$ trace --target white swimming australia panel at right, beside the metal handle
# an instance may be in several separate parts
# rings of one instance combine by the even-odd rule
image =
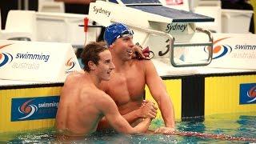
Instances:
[[[213,34],[214,54],[209,67],[256,69],[255,34]],[[205,48],[205,52],[208,50]]]

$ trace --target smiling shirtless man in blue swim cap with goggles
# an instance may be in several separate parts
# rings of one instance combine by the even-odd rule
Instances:
[[[130,123],[137,126],[143,118],[155,118],[157,106],[154,102],[143,100],[145,87],[161,110],[165,126],[155,130],[157,133],[174,131],[174,106],[167,93],[166,86],[159,77],[154,63],[150,60],[134,58],[135,49],[142,49],[133,42],[134,32],[122,23],[113,23],[106,27],[104,40],[113,58],[115,69],[110,81],[101,82],[101,89],[109,94],[118,106],[120,114]],[[110,128],[106,118],[98,123],[98,130]]]

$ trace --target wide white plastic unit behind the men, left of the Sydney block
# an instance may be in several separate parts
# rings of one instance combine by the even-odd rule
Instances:
[[[38,12],[36,16],[38,41],[69,42],[74,47],[82,48],[85,44],[95,42],[97,39],[97,29],[88,28],[86,37],[83,28],[79,26],[83,24],[86,14]],[[92,25],[92,22],[89,24]]]

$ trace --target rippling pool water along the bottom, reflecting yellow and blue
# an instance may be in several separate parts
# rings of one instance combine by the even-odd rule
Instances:
[[[150,130],[155,130],[160,126],[163,126],[162,120],[155,119],[151,123]],[[181,134],[186,134],[186,136],[177,134],[127,135],[118,134],[114,131],[105,131],[90,134],[90,136],[82,139],[66,140],[57,139],[54,128],[51,128],[3,133],[0,134],[0,143],[255,143],[256,112],[215,114],[206,118],[186,118],[182,122],[176,122],[176,130],[180,131]],[[190,136],[187,136],[187,134],[190,134]],[[205,137],[209,135],[209,138]]]

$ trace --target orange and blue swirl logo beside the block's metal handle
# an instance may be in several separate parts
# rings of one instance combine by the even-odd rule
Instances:
[[[227,37],[230,38],[230,37]],[[230,54],[232,51],[232,47],[229,45],[218,45],[218,42],[221,42],[226,38],[220,38],[214,41],[214,48],[213,48],[213,59],[222,58],[226,54]],[[208,48],[205,47],[205,52],[208,53]]]

